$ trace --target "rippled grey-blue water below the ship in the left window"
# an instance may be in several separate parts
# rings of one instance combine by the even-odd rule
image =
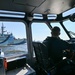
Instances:
[[[27,54],[27,44],[0,46],[5,57],[14,57]]]

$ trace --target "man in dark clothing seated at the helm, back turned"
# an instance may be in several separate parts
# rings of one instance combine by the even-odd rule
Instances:
[[[54,63],[58,63],[63,58],[63,50],[70,51],[70,44],[59,38],[60,28],[54,27],[51,30],[51,37],[47,37],[43,44],[47,46],[49,57]]]

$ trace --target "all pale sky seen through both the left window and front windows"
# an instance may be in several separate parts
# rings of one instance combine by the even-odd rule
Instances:
[[[69,15],[70,13],[75,13],[75,8],[65,12],[63,14],[63,16],[65,15]],[[25,29],[25,24],[23,22],[2,22],[0,21],[0,33],[1,33],[1,26],[2,24],[5,27],[5,31],[7,31],[8,33],[13,33],[13,36],[15,36],[15,38],[26,38],[26,29]],[[64,22],[65,27],[67,27],[68,30],[75,32],[74,29],[74,25],[75,22]],[[53,26],[57,26],[59,25],[59,27],[61,28],[60,24],[58,23],[54,23],[52,24]],[[38,30],[39,29],[39,30]],[[5,32],[5,33],[7,33]],[[40,34],[39,34],[40,33]],[[65,32],[63,31],[63,29],[61,28],[61,38],[63,39],[67,39],[68,37],[65,35]],[[41,37],[42,35],[42,37]],[[46,26],[45,23],[33,23],[32,24],[32,37],[33,40],[44,40],[47,36],[50,36],[50,30],[48,29],[48,27]]]

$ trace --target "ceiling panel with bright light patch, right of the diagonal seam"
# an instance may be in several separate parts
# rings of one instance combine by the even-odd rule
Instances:
[[[75,5],[75,0],[46,0],[33,13],[60,14]],[[39,12],[38,12],[39,11]]]

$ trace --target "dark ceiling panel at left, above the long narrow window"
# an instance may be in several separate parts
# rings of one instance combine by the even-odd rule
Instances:
[[[0,0],[0,10],[31,12],[35,7],[17,4],[13,0]]]

